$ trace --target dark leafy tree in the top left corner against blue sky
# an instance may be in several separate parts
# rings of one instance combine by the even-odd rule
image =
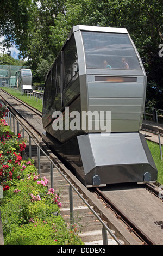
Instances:
[[[26,41],[31,7],[32,0],[1,1],[0,36],[5,35],[5,47],[11,47],[14,42],[20,45]]]

